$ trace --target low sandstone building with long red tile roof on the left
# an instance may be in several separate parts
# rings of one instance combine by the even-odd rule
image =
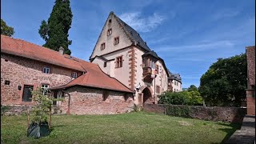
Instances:
[[[52,90],[62,113],[117,114],[132,110],[134,91],[97,64],[1,35],[1,104],[33,105],[31,90]]]

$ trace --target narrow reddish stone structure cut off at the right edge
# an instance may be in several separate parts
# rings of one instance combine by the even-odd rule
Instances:
[[[255,46],[246,47],[247,61],[247,114],[255,115]]]

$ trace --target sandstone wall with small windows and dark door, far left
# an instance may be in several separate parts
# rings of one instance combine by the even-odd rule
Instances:
[[[50,66],[50,74],[42,73],[44,66]],[[50,87],[63,85],[70,82],[70,74],[73,71],[75,70],[9,54],[1,54],[1,104],[31,104],[31,102],[22,102],[24,84],[33,85],[34,89],[41,84],[49,84]],[[78,72],[78,75],[81,74]],[[5,80],[9,80],[10,85],[5,85]],[[18,85],[22,86],[22,90],[18,90]]]

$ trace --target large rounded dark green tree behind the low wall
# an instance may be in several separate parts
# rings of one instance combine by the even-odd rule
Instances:
[[[240,106],[246,98],[246,54],[218,58],[200,79],[207,106]]]

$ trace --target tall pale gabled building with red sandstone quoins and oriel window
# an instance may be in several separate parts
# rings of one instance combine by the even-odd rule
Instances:
[[[114,12],[106,19],[90,62],[134,90],[134,103],[139,106],[157,103],[158,95],[168,89],[169,73],[163,59]]]

